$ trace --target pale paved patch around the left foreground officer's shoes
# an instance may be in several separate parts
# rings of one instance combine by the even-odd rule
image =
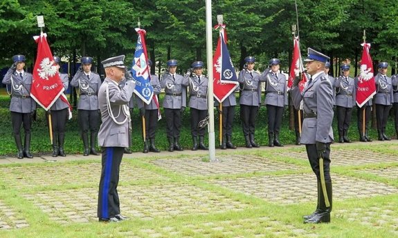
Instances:
[[[185,184],[163,184],[161,186],[119,186],[120,210],[127,217],[153,219],[175,215],[208,215],[214,212],[243,210],[251,205],[235,201],[216,192]],[[84,199],[81,195],[84,194]],[[98,189],[42,191],[26,194],[33,202],[57,221],[98,221]],[[51,199],[46,199],[51,197]],[[44,206],[44,204],[48,206]],[[62,204],[62,210],[59,209]],[[49,207],[49,209],[47,208]],[[87,220],[87,217],[89,218]]]

